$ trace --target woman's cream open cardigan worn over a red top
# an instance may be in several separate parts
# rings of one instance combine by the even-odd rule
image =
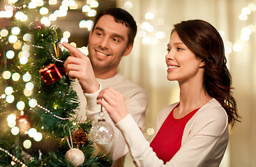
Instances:
[[[174,106],[176,104],[166,106],[160,111],[157,131]],[[166,164],[158,159],[130,115],[118,122],[116,127],[126,138],[135,166],[219,166],[229,140],[227,113],[215,99],[204,104],[188,121],[180,150]]]

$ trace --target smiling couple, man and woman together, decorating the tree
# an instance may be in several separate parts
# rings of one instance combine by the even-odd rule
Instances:
[[[114,127],[109,145],[113,166],[123,166],[130,151],[135,166],[218,166],[227,148],[228,125],[239,119],[231,92],[223,40],[208,22],[194,19],[174,25],[167,44],[167,79],[178,81],[180,101],[158,114],[151,143],[141,128],[147,96],[117,73],[122,56],[133,48],[137,25],[125,10],[113,8],[96,17],[89,35],[89,56],[70,50],[64,67],[86,97],[86,116],[98,120],[100,105]]]

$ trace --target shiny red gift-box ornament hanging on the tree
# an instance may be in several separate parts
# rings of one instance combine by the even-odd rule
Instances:
[[[65,73],[64,68],[58,68],[55,64],[51,63],[40,70],[41,77],[45,84],[50,85],[55,81],[61,79],[62,75]]]

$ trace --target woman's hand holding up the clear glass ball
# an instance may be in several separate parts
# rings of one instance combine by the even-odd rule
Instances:
[[[114,123],[119,122],[128,115],[123,95],[114,88],[105,88],[97,97],[97,104],[101,104],[109,113]]]

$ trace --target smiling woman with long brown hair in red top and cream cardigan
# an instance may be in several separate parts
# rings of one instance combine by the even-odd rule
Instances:
[[[229,140],[228,124],[239,119],[220,34],[199,19],[176,24],[165,61],[167,79],[179,82],[180,101],[160,111],[151,144],[120,93],[102,90],[98,104],[126,138],[136,166],[219,166]]]

